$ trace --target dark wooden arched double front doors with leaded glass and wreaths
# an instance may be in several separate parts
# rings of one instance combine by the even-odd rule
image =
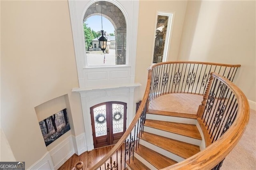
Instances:
[[[126,103],[111,101],[90,108],[94,148],[116,144],[126,130]]]

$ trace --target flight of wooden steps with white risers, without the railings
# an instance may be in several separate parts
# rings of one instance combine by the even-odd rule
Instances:
[[[162,169],[200,152],[196,115],[150,110],[128,169]]]

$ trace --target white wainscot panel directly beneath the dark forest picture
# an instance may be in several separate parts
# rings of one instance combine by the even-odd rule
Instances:
[[[72,135],[70,135],[68,138],[50,150],[50,156],[52,157],[54,169],[57,170],[60,168],[60,166],[62,166],[74,153],[73,139]]]

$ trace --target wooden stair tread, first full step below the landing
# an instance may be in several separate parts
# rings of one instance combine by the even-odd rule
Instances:
[[[145,126],[202,140],[196,125],[146,119]]]

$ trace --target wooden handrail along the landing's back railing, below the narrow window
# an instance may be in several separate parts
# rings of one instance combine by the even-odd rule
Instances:
[[[164,64],[175,64],[175,63],[189,63],[189,64],[204,64],[204,65],[217,65],[217,66],[224,66],[224,67],[241,67],[240,64],[222,64],[222,63],[211,63],[211,62],[202,62],[202,61],[166,61],[162,63],[155,63],[150,66],[150,69],[158,66],[158,65],[164,65]]]

